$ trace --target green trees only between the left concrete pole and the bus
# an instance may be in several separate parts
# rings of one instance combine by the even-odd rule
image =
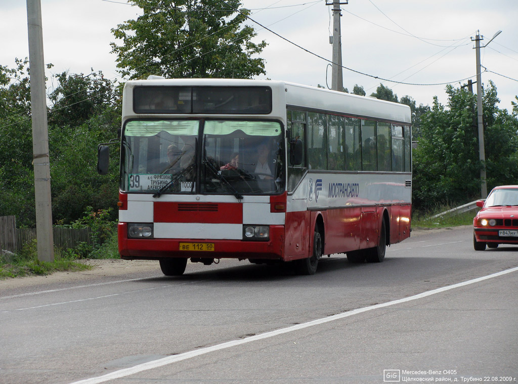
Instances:
[[[117,154],[112,148],[113,172],[96,172],[97,144],[117,137],[121,122],[117,84],[102,72],[55,75],[57,86],[49,94],[49,154],[52,178],[52,216],[69,223],[87,206],[95,210],[117,204]],[[112,220],[116,214],[112,213]]]

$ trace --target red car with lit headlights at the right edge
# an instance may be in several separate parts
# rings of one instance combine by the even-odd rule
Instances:
[[[518,245],[518,186],[495,187],[485,202],[479,200],[482,209],[473,219],[473,248],[483,251],[486,245]]]

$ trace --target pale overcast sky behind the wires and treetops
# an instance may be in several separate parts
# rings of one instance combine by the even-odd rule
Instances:
[[[328,0],[331,2],[332,0]],[[344,0],[342,0],[344,2]],[[69,70],[88,74],[91,68],[119,79],[110,29],[134,19],[139,8],[125,0],[41,0],[45,62],[54,64],[47,76]],[[306,50],[332,59],[332,7],[325,0],[242,0],[251,18]],[[445,85],[455,87],[475,80],[474,42],[477,30],[486,44],[482,65],[488,71],[482,82],[496,84],[500,107],[511,110],[518,95],[518,1],[516,0],[350,0],[342,5],[342,64],[365,75],[343,69],[343,86],[355,84],[367,94],[382,82],[399,98],[410,95],[418,104],[431,105],[438,96],[447,103]],[[328,62],[247,22],[268,46],[266,76],[316,86],[331,84]],[[120,44],[120,42],[119,42]],[[15,58],[28,56],[26,2],[0,0],[0,65],[14,66]],[[370,76],[367,76],[370,75]],[[408,85],[394,81],[420,84]],[[49,84],[52,87],[52,84]]]

